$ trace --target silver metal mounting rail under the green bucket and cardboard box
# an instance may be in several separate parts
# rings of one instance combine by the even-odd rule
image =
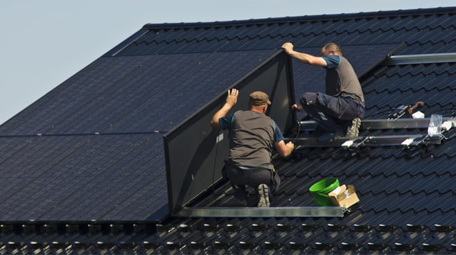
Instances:
[[[345,207],[184,207],[176,217],[184,218],[258,218],[258,217],[343,217]]]

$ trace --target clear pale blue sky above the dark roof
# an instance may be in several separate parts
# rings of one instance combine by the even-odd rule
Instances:
[[[0,124],[145,24],[456,6],[454,0],[1,0]]]

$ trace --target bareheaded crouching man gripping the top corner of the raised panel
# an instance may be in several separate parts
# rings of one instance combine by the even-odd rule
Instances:
[[[299,112],[305,110],[318,123],[315,136],[322,140],[358,137],[365,100],[358,76],[342,56],[340,46],[326,44],[321,57],[295,51],[290,42],[283,44],[282,49],[300,62],[326,69],[326,94],[306,92],[301,95],[300,105],[292,105]]]

